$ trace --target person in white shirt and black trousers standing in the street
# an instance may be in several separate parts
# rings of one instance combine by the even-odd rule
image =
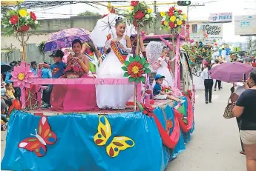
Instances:
[[[206,98],[206,104],[211,103],[211,94],[212,94],[212,87],[213,87],[213,80],[211,79],[209,75],[209,70],[211,70],[211,67],[209,64],[203,65],[203,72],[202,77],[204,79],[204,85],[205,85],[205,98]]]

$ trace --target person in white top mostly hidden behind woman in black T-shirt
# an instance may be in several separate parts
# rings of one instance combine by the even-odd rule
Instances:
[[[230,100],[235,103],[237,101],[237,99],[239,98],[239,96],[247,89],[249,89],[249,86],[247,84],[244,84],[242,82],[237,82],[237,83],[234,83],[233,84],[233,87],[237,87],[236,90],[234,90],[234,93],[232,93],[232,95],[230,96]],[[237,126],[238,126],[238,129],[240,131],[240,121],[241,121],[241,118],[238,118],[237,117]],[[243,148],[243,142],[240,138],[240,143],[241,143],[241,148],[242,150],[240,151],[240,154],[243,154],[245,155],[245,151],[244,151],[244,148]]]

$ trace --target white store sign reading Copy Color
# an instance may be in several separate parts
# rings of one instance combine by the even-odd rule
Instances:
[[[197,32],[205,38],[223,38],[223,24],[200,24]]]

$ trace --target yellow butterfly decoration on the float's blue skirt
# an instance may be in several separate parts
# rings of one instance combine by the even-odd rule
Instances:
[[[93,140],[98,146],[106,146],[109,156],[116,157],[121,150],[134,147],[135,143],[131,138],[125,136],[112,136],[111,125],[108,118],[104,115],[99,116],[98,133],[94,135]]]

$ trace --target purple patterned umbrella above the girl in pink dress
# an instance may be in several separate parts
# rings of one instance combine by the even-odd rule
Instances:
[[[60,30],[50,35],[48,41],[45,42],[45,51],[58,50],[65,47],[71,47],[72,41],[79,39],[82,42],[90,41],[90,32],[82,28],[70,28]]]

